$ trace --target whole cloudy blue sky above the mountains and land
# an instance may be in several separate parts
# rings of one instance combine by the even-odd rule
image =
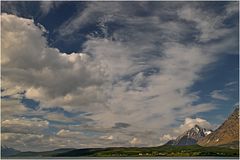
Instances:
[[[2,2],[1,143],[159,146],[239,104],[238,2]]]

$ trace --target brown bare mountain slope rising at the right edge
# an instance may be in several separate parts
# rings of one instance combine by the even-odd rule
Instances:
[[[201,146],[239,148],[239,108],[213,133],[198,141]]]

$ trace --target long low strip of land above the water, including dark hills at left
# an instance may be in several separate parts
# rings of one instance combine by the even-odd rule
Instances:
[[[202,147],[199,145],[159,147],[114,147],[88,149],[58,149],[47,152],[21,152],[14,157],[238,157],[238,149]]]

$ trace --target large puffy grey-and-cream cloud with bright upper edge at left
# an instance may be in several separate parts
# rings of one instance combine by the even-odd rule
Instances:
[[[2,14],[2,22],[4,92],[17,86],[45,106],[88,105],[104,99],[104,73],[89,55],[46,47],[43,31],[33,20]]]

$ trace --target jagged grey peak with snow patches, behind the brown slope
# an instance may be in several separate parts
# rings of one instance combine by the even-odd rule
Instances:
[[[172,145],[172,146],[194,145],[197,143],[199,139],[207,136],[211,132],[212,132],[211,130],[195,125],[190,130],[178,136],[177,139],[168,141],[166,145]]]

